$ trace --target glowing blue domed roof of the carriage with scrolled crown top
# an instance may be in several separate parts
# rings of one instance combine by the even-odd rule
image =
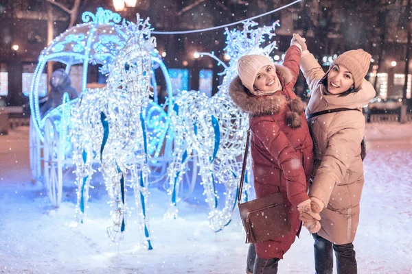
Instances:
[[[56,37],[38,57],[29,93],[30,110],[34,127],[43,142],[43,125],[38,105],[38,97],[47,95],[47,90],[40,88],[41,73],[49,61],[61,62],[67,66],[67,73],[73,64],[82,64],[82,90],[87,85],[87,69],[90,63],[110,64],[117,49],[124,46],[126,33],[121,17],[110,10],[98,8],[96,14],[84,12],[82,19],[85,23],[71,27]],[[43,124],[43,125],[42,125]]]

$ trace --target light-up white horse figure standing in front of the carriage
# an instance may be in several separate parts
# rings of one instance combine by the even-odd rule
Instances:
[[[73,108],[73,160],[78,184],[78,221],[82,221],[89,199],[93,162],[100,162],[106,189],[111,197],[113,226],[108,236],[122,238],[126,226],[126,186],[135,192],[137,214],[144,236],[142,243],[152,249],[146,216],[148,197],[146,129],[143,112],[150,95],[152,51],[156,47],[150,37],[148,19],[137,25],[124,23],[128,41],[109,66],[107,86],[82,93]]]

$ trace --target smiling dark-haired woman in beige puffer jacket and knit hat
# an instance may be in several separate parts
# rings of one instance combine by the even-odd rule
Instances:
[[[362,49],[347,51],[324,73],[307,51],[304,39],[299,37],[298,40],[306,50],[302,53],[301,71],[311,92],[306,109],[314,142],[309,196],[313,210],[320,211],[322,218],[321,230],[313,234],[315,269],[317,274],[332,274],[333,248],[338,273],[353,274],[357,266],[352,242],[359,223],[364,183],[361,142],[365,118],[362,108],[376,93],[365,79],[371,55]],[[324,112],[338,108],[341,111]],[[342,108],[351,110],[342,111]],[[304,217],[302,220],[305,225],[310,224],[310,220]]]

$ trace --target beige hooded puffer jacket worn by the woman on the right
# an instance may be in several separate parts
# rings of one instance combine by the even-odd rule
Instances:
[[[362,110],[375,97],[374,87],[366,79],[356,93],[345,97],[325,94],[325,86],[319,84],[325,73],[308,51],[302,56],[301,71],[311,92],[306,114],[334,108]],[[353,242],[364,182],[361,141],[365,134],[365,118],[362,112],[350,110],[315,116],[308,125],[315,159],[309,196],[325,204],[318,234],[336,245]]]

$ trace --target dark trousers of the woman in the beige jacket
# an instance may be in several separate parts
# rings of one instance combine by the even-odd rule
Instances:
[[[312,234],[312,236],[314,238],[314,269],[317,274],[332,274],[332,248],[335,251],[336,269],[338,270],[338,274],[358,273],[354,245],[352,245],[352,242],[345,245],[335,245],[318,234]]]

